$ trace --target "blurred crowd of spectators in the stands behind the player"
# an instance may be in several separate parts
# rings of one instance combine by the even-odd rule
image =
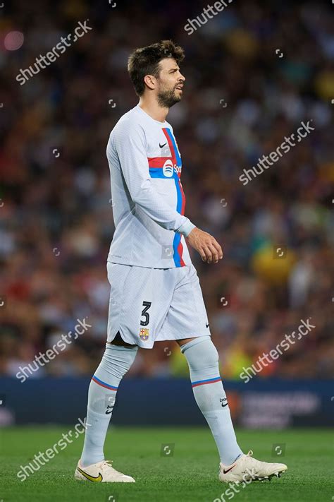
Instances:
[[[316,328],[257,378],[333,375],[334,6],[233,1],[187,35],[200,1],[111,4],[1,8],[0,373],[15,377],[84,317],[92,328],[30,378],[89,375],[99,364],[114,231],[106,143],[137,104],[128,55],[171,38],[186,56],[183,100],[167,118],[183,157],[186,215],[225,253],[208,265],[190,249],[221,374],[239,378],[311,318]],[[92,30],[18,83],[20,68],[87,19]],[[15,31],[24,36],[16,50]],[[309,120],[307,138],[242,185],[243,169]],[[187,373],[175,342],[140,349],[130,370]]]

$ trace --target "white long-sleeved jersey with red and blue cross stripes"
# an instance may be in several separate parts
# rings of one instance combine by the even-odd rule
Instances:
[[[139,104],[111,131],[106,148],[115,232],[108,261],[149,268],[190,265],[181,155],[168,122]]]

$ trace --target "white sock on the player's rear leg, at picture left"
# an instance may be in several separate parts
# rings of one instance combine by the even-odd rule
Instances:
[[[101,363],[89,384],[83,467],[104,460],[104,441],[118,385],[135,360],[138,347],[106,345]]]

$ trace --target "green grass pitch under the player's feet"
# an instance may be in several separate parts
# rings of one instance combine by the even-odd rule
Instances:
[[[113,428],[109,429],[105,455],[113,466],[135,477],[136,483],[76,482],[73,472],[82,449],[79,436],[66,449],[20,482],[16,473],[39,451],[45,452],[70,427],[12,427],[0,430],[0,502],[214,502],[228,501],[228,485],[218,482],[218,454],[205,428]],[[334,500],[333,439],[321,429],[287,431],[237,431],[238,441],[254,457],[282,461],[288,470],[280,479],[254,482],[233,499],[252,502],[306,502]],[[273,458],[274,443],[285,452]],[[174,445],[161,455],[161,445]],[[162,447],[163,448],[163,447]],[[168,453],[166,448],[165,453]],[[172,447],[171,447],[172,448]],[[170,448],[170,450],[171,450]],[[223,498],[222,498],[223,496]]]

